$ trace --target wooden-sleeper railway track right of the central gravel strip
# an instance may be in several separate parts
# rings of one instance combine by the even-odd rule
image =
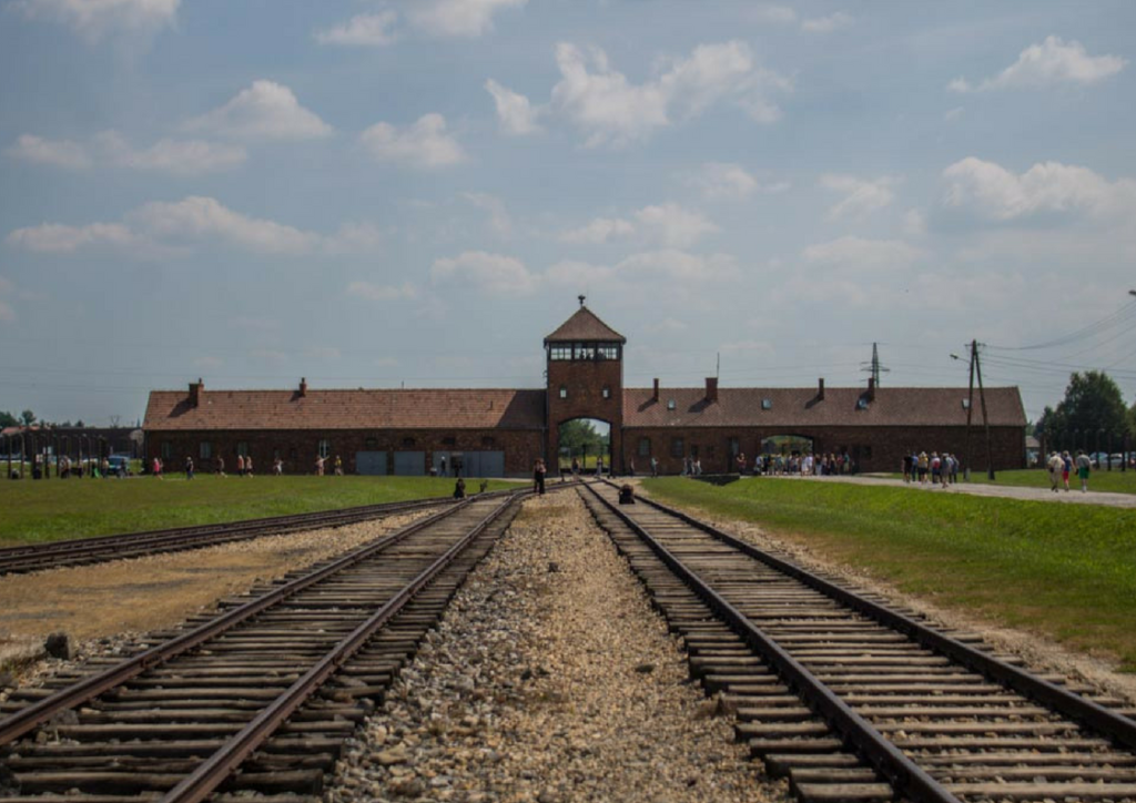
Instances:
[[[692,676],[803,801],[1136,801],[1121,700],[617,488],[585,501],[678,631]]]

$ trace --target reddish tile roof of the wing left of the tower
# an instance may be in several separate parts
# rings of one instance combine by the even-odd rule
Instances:
[[[143,428],[542,429],[544,391],[151,391]]]

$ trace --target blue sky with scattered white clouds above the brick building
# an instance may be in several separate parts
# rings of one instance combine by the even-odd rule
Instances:
[[[1136,3],[0,0],[0,409],[626,383],[1136,400]],[[1100,323],[1097,323],[1100,321]],[[1043,348],[1034,348],[1043,346]]]

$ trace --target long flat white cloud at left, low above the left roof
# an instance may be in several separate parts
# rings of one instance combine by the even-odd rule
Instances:
[[[190,195],[152,201],[127,212],[120,223],[85,226],[41,224],[8,234],[11,245],[41,253],[112,249],[141,258],[184,256],[194,244],[227,244],[245,251],[283,256],[369,253],[382,242],[370,224],[348,223],[332,235],[249,217],[215,198]]]

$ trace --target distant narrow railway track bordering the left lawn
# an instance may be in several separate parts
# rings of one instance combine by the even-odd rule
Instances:
[[[55,541],[48,544],[11,546],[0,549],[0,575],[98,563],[120,558],[140,558],[159,552],[195,550],[215,544],[259,538],[264,535],[281,535],[319,527],[343,527],[359,521],[452,503],[453,500],[449,497],[389,502],[386,504],[368,504],[198,527],[177,527],[94,538]]]

